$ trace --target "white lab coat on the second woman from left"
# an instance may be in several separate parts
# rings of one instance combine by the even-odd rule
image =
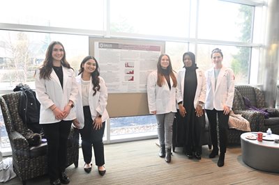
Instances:
[[[84,112],[82,105],[82,75],[76,77],[78,84],[78,97],[77,97],[77,106],[75,106],[75,111],[77,113],[77,120],[80,122],[80,128],[84,127]],[[89,108],[91,112],[92,120],[95,120],[98,113],[102,115],[102,122],[109,118],[107,113],[107,86],[105,86],[105,81],[102,77],[100,79],[100,91],[97,90],[96,95],[93,96],[93,83],[89,83]],[[91,78],[90,78],[91,81]]]

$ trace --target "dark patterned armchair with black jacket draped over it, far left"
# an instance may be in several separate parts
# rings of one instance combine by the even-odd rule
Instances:
[[[36,147],[29,147],[24,132],[27,126],[22,122],[18,113],[20,92],[10,93],[0,97],[3,120],[8,132],[13,154],[13,170],[26,184],[27,179],[47,174],[47,143]],[[79,131],[71,128],[68,138],[67,166],[78,166],[79,158]]]

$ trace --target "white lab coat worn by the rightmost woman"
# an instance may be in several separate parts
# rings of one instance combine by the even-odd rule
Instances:
[[[206,71],[206,102],[205,108],[223,111],[224,106],[232,108],[234,100],[234,72],[228,67],[222,67],[218,75],[216,89],[214,68]]]

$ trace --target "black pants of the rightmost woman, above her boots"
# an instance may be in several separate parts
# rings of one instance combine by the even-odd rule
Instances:
[[[209,127],[213,149],[218,147],[216,116],[218,115],[220,153],[225,153],[227,150],[227,130],[229,129],[229,115],[225,115],[224,111],[216,111],[215,108],[213,110],[206,109],[206,114],[207,118],[209,118]]]

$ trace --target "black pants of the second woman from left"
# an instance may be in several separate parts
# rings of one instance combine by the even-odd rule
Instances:
[[[80,130],[82,136],[82,153],[85,163],[91,163],[92,159],[92,145],[95,155],[96,166],[103,166],[105,164],[103,135],[105,131],[105,122],[100,129],[93,129],[93,120],[90,113],[89,106],[83,107],[84,111],[84,127]]]

